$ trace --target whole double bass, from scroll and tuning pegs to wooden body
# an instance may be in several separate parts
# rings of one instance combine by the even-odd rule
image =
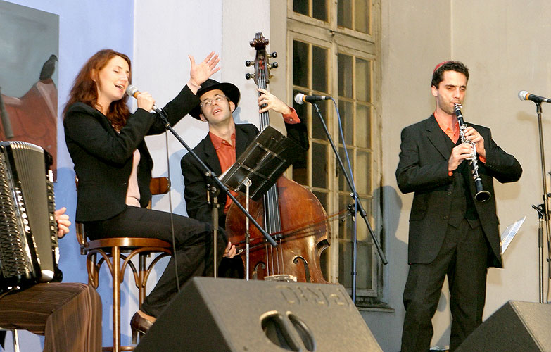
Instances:
[[[251,41],[255,48],[255,83],[267,89],[270,82],[270,65],[267,54],[268,40],[257,33]],[[250,65],[250,62],[247,62]],[[247,75],[251,77],[251,75]],[[247,78],[248,78],[247,77]],[[262,94],[262,93],[260,93]],[[259,94],[259,96],[260,96]],[[260,130],[270,125],[268,112],[260,113]],[[238,201],[246,201],[239,196]],[[267,191],[263,199],[249,200],[249,213],[276,241],[272,247],[255,227],[250,230],[249,277],[273,281],[328,283],[322,275],[320,256],[329,247],[330,227],[327,214],[314,194],[284,176]],[[245,246],[246,220],[232,204],[226,218],[229,241],[242,251]],[[246,258],[242,255],[243,263]]]

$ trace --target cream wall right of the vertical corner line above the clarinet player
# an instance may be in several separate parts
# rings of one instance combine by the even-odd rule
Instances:
[[[524,168],[516,184],[498,184],[501,230],[526,215],[518,237],[503,256],[505,269],[490,269],[485,317],[508,300],[538,301],[538,216],[543,187],[536,106],[519,101],[528,90],[551,95],[551,47],[540,36],[548,32],[551,9],[545,1],[503,1],[490,6],[479,1],[453,3],[452,50],[471,68],[465,116],[492,128],[494,139],[513,153]],[[475,17],[473,14],[476,13]],[[478,20],[477,20],[478,18]],[[467,106],[467,105],[466,105]],[[551,111],[543,106],[543,132],[551,132]],[[551,145],[545,141],[545,153]],[[547,159],[548,163],[549,159]],[[550,165],[545,165],[547,171]],[[546,175],[547,183],[550,182]]]

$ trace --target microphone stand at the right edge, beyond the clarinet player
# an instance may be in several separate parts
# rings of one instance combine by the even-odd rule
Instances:
[[[543,211],[538,210],[538,218],[539,218],[539,230],[538,230],[538,247],[539,247],[539,292],[540,292],[540,303],[545,303],[545,295],[544,295],[544,279],[543,279],[543,272],[544,272],[544,262],[543,262],[543,233],[541,231],[542,227],[542,221],[545,221],[545,236],[547,237],[547,265],[551,266],[550,261],[550,234],[551,234],[551,227],[550,227],[550,221],[549,221],[549,197],[550,194],[547,193],[547,172],[545,172],[545,152],[543,150],[543,123],[542,123],[542,110],[541,110],[541,103],[536,102],[536,113],[538,114],[538,132],[540,137],[540,160],[541,160],[541,178],[542,178],[542,184],[543,184],[543,204],[541,204],[538,207],[533,207],[536,210],[540,208]],[[547,268],[549,270],[550,268]],[[551,272],[548,272],[548,279],[549,275],[551,275]],[[548,297],[547,297],[548,299]]]

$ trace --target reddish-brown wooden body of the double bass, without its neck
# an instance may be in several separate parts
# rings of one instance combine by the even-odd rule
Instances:
[[[312,192],[286,177],[277,180],[277,192],[281,232],[274,234],[274,239],[279,246],[272,248],[258,229],[251,227],[249,276],[265,279],[290,275],[298,282],[327,283],[319,263],[322,251],[329,246],[330,233],[322,204]],[[244,203],[243,197],[239,200]],[[259,224],[273,221],[266,218],[262,201],[250,201],[249,212]],[[226,218],[226,230],[229,241],[243,249],[245,216],[234,205]]]

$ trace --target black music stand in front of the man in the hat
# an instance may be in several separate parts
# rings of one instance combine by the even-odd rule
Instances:
[[[258,201],[304,151],[305,149],[293,139],[285,137],[274,127],[267,126],[247,146],[234,165],[220,175],[220,181],[232,191],[248,194],[253,201]],[[246,210],[248,211],[248,203]],[[248,222],[248,219],[246,221]],[[249,239],[247,230],[245,234],[247,279]]]

